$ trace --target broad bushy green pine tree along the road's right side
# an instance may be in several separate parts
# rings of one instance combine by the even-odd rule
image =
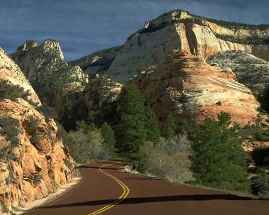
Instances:
[[[239,125],[231,125],[231,116],[224,112],[217,118],[207,118],[195,131],[190,157],[193,175],[207,186],[246,190],[246,155],[237,132]]]

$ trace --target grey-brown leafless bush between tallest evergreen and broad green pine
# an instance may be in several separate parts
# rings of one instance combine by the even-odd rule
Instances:
[[[151,142],[145,143],[140,149],[145,172],[172,182],[193,180],[189,170],[190,145],[186,134],[170,139],[161,138],[155,145]]]

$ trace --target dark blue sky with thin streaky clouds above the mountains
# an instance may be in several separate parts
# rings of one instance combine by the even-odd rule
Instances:
[[[161,13],[183,9],[208,18],[269,23],[268,0],[0,0],[0,47],[58,40],[65,60],[122,45]]]

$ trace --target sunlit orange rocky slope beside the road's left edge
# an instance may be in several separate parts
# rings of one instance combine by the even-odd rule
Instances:
[[[46,197],[74,175],[74,161],[37,94],[0,49],[0,214]]]

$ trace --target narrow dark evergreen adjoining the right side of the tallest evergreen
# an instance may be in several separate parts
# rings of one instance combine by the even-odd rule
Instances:
[[[145,128],[147,129],[147,140],[153,143],[158,143],[160,139],[158,121],[147,102],[145,102],[145,114]]]

